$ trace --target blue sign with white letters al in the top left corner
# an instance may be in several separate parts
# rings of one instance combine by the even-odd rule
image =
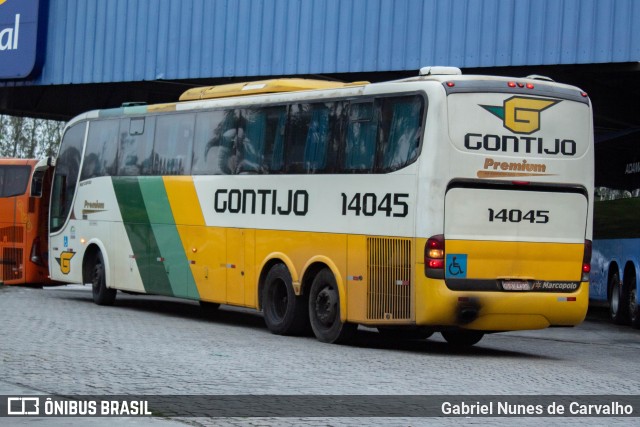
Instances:
[[[38,57],[40,0],[0,0],[0,79],[31,75]]]

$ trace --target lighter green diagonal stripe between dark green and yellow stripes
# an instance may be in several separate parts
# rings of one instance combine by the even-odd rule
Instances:
[[[143,177],[139,182],[151,230],[160,252],[155,263],[164,267],[175,296],[198,299],[198,289],[184,253],[162,177]]]

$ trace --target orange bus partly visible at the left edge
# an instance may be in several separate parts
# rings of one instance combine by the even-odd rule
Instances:
[[[0,284],[51,284],[51,159],[0,159]]]

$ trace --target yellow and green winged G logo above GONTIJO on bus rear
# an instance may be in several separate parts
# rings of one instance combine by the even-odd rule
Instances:
[[[502,120],[504,127],[514,133],[529,135],[540,130],[540,113],[556,105],[559,100],[513,96],[502,106],[480,105]]]

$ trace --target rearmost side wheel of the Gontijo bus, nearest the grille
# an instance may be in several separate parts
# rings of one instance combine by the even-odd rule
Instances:
[[[333,273],[323,268],[309,291],[309,321],[319,341],[344,343],[355,335],[358,325],[340,320],[340,293]]]

